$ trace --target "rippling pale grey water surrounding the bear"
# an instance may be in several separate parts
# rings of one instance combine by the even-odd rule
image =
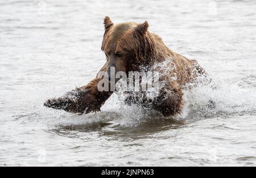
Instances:
[[[254,0],[0,2],[0,166],[256,166],[255,9]],[[117,95],[101,113],[44,108],[105,63],[105,15],[148,20],[218,89],[187,91],[176,120]]]

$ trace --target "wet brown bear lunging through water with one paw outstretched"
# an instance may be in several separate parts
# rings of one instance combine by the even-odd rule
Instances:
[[[133,22],[114,25],[108,16],[104,19],[105,33],[101,50],[106,54],[106,63],[100,70],[110,72],[110,67],[117,71],[150,70],[151,66],[163,63],[171,58],[171,62],[159,73],[159,80],[164,82],[159,95],[148,100],[150,107],[164,116],[181,113],[183,109],[183,87],[195,83],[199,75],[205,75],[204,69],[195,60],[173,52],[164,45],[162,39],[148,31],[148,22],[137,24]],[[64,109],[73,113],[90,113],[100,111],[113,91],[99,91],[98,83],[102,77],[94,78],[86,86],[68,92],[61,98],[49,99],[46,107]]]

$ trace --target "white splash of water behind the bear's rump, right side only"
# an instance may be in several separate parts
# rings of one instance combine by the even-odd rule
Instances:
[[[185,90],[184,116],[230,115],[256,111],[255,83],[249,84],[243,79],[237,83],[227,83],[214,79],[218,87],[199,85],[191,90]],[[242,83],[246,83],[242,84]]]

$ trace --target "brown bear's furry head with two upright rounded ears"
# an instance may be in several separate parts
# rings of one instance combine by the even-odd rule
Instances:
[[[108,16],[104,19],[105,33],[101,49],[108,60],[107,73],[114,67],[118,71],[147,70],[152,60],[156,58],[156,40],[160,37],[148,32],[148,23],[137,24],[134,22],[114,25]]]

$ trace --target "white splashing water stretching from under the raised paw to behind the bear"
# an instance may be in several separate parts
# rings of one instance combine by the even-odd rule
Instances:
[[[171,62],[167,61],[166,65]],[[203,79],[202,79],[203,78]],[[123,101],[126,95],[116,92],[101,108],[102,112],[82,116],[67,116],[62,119],[64,125],[92,124],[96,122],[118,122],[121,126],[137,126],[144,122],[159,120],[189,120],[227,116],[256,111],[256,80],[255,76],[243,78],[238,82],[225,82],[209,75],[199,78],[196,87],[184,89],[184,109],[181,115],[166,118],[161,113],[143,107],[139,104],[126,105]],[[212,79],[212,83],[209,80]],[[206,82],[206,83],[204,83]],[[154,92],[154,91],[153,91]],[[150,95],[147,95],[150,96]]]

